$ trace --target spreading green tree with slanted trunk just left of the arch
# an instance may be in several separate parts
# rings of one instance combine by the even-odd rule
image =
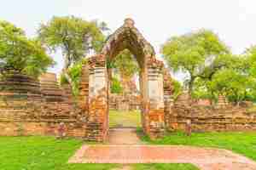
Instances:
[[[67,71],[69,66],[79,62],[90,50],[99,51],[102,48],[104,36],[98,26],[96,21],[66,16],[53,17],[38,30],[39,39],[50,51],[61,49],[65,60],[63,75],[72,86],[72,78]],[[102,27],[106,28],[105,25]]]

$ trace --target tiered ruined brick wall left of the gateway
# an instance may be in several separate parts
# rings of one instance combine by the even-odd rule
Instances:
[[[38,80],[20,74],[2,79],[0,135],[59,135],[63,122],[68,136],[84,137],[83,116],[73,107],[67,88],[57,86],[54,74],[43,77],[42,86]]]

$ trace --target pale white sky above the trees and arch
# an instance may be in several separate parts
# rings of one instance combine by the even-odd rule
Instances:
[[[201,28],[211,29],[234,54],[241,54],[256,44],[255,7],[253,0],[6,0],[1,2],[0,20],[14,23],[34,37],[40,23],[54,15],[105,21],[111,31],[131,17],[158,56],[168,38]],[[58,64],[50,71],[60,72],[61,53],[51,55]]]

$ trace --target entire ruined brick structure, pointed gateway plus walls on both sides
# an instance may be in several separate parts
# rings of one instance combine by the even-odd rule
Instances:
[[[193,132],[256,130],[256,113],[227,105],[222,96],[218,105],[198,105],[185,93],[173,101],[170,71],[156,59],[154,48],[134,21],[126,19],[108,37],[102,51],[83,65],[76,100],[71,87],[60,87],[53,73],[45,73],[39,79],[17,72],[1,77],[0,135],[55,135],[105,141],[111,102],[107,61],[125,48],[134,54],[140,67],[142,127],[151,139],[162,137],[166,129],[184,130],[186,122],[191,122]]]

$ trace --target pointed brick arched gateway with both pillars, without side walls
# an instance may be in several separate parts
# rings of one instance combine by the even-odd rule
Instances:
[[[164,65],[155,59],[154,48],[134,26],[134,21],[126,19],[124,25],[108,37],[102,53],[89,59],[86,139],[104,141],[108,137],[107,60],[114,59],[125,48],[134,54],[140,66],[143,131],[153,139],[164,133]]]

